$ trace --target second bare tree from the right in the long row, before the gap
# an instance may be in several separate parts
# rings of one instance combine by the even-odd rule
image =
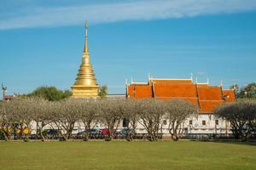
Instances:
[[[142,99],[137,102],[140,117],[139,123],[148,132],[148,140],[158,140],[160,122],[165,114],[164,102],[157,99]]]

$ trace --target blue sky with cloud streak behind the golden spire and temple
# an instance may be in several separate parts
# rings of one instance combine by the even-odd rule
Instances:
[[[109,93],[125,78],[255,82],[255,0],[0,0],[0,82],[8,93],[70,89],[89,21],[90,58]],[[2,92],[0,93],[2,94]]]

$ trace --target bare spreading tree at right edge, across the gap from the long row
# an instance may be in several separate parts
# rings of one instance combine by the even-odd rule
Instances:
[[[235,103],[219,106],[215,114],[230,122],[235,139],[247,140],[256,122],[256,101],[239,99]]]

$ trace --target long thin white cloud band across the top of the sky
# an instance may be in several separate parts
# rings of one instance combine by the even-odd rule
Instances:
[[[76,4],[63,7],[24,7],[0,12],[0,30],[75,26],[122,20],[158,20],[206,14],[232,14],[256,9],[255,0],[147,0],[129,3]]]

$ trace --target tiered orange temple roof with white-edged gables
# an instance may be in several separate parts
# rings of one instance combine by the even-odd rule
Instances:
[[[218,105],[236,100],[233,89],[196,83],[192,79],[153,79],[148,82],[127,84],[127,97],[131,99],[184,99],[198,105],[201,113],[212,113]]]

